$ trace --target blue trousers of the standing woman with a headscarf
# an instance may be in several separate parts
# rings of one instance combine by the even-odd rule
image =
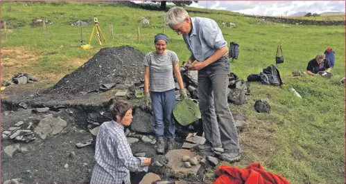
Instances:
[[[155,118],[155,136],[157,140],[164,140],[164,124],[168,126],[167,138],[175,138],[175,121],[173,108],[175,106],[174,89],[164,92],[150,92]]]

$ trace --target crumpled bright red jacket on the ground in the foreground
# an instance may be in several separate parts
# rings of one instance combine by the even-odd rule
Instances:
[[[264,171],[259,163],[252,163],[245,169],[221,165],[216,169],[214,184],[290,184],[279,174]]]

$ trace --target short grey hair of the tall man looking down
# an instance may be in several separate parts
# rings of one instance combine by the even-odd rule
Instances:
[[[175,24],[182,24],[184,19],[189,18],[189,13],[184,8],[175,6],[166,12],[164,15],[164,24],[172,26]]]

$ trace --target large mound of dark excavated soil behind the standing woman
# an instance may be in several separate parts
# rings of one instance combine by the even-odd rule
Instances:
[[[144,77],[144,53],[130,46],[101,48],[92,59],[43,93],[76,94],[101,84],[131,84]]]

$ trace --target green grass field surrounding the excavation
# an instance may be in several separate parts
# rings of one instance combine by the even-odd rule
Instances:
[[[10,28],[7,41],[1,30],[1,78],[9,80],[15,73],[29,73],[51,85],[103,47],[130,45],[148,53],[155,48],[154,35],[164,28],[169,37],[167,48],[178,54],[180,62],[187,60],[189,51],[182,37],[164,26],[164,13],[112,2],[1,1],[1,20],[6,21],[8,28],[11,24],[24,24]],[[240,134],[243,160],[234,166],[244,168],[258,162],[266,170],[297,184],[345,183],[345,86],[339,84],[345,77],[345,27],[258,24],[259,19],[226,16],[216,10],[211,14],[190,15],[214,19],[227,43],[238,42],[239,59],[232,62],[232,72],[244,80],[275,64],[277,45],[282,45],[285,62],[277,66],[284,82],[282,89],[251,83],[252,100],[242,106],[230,105],[232,112],[248,118]],[[29,26],[32,19],[43,17],[53,21],[46,28],[46,39],[42,27]],[[80,49],[80,28],[69,26],[69,21],[94,17],[98,17],[107,43],[98,46],[94,35],[94,48]],[[146,28],[140,23],[144,18],[151,22]],[[222,21],[232,22],[236,28],[222,27]],[[110,23],[114,28],[113,40]],[[139,42],[137,26],[140,26]],[[84,42],[89,39],[92,27],[93,24],[83,27]],[[304,71],[307,62],[327,47],[336,52],[334,76],[330,80],[292,76],[292,71]],[[291,87],[302,99],[295,98],[289,91]],[[270,100],[270,113],[254,111],[254,100],[260,98]],[[211,180],[212,173],[206,179]]]

